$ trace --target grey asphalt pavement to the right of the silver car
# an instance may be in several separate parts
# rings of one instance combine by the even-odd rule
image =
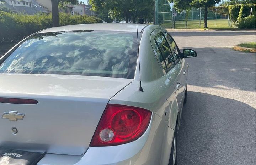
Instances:
[[[255,32],[171,32],[190,58],[178,165],[255,165],[255,54],[231,49]]]

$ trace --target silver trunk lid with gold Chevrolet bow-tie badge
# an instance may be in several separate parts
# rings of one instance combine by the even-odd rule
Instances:
[[[0,97],[35,99],[37,104],[0,103],[0,148],[79,155],[86,152],[102,113],[132,79],[39,74],[0,74]],[[12,128],[17,134],[12,133]]]

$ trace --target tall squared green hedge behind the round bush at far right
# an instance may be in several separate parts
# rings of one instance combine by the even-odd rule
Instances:
[[[252,8],[252,15],[255,15],[255,5],[256,4],[235,4],[235,5],[229,5],[229,14],[230,14],[230,19],[232,22],[237,23],[238,22],[238,15],[240,12],[240,8],[243,5],[242,9],[242,16],[241,18],[247,17],[250,15],[250,11]]]

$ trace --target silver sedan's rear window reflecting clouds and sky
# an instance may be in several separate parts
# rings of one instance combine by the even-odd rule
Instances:
[[[137,50],[137,34],[134,32],[38,33],[25,40],[0,62],[0,73],[133,79]]]

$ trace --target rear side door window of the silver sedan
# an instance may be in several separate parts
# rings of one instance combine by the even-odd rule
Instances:
[[[160,49],[161,57],[164,59],[166,64],[166,69],[169,69],[174,64],[174,58],[169,44],[162,32],[155,35],[155,44],[158,45],[158,48]]]

